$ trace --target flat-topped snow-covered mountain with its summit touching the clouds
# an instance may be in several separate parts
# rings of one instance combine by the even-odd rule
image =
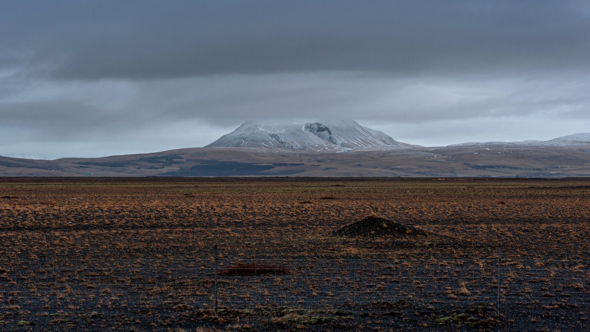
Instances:
[[[206,147],[350,151],[369,147],[411,148],[352,120],[245,122]]]

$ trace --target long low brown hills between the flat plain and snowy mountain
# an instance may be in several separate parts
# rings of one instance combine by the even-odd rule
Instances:
[[[0,157],[0,176],[583,177],[590,144],[375,147],[348,152],[185,148],[103,158]]]

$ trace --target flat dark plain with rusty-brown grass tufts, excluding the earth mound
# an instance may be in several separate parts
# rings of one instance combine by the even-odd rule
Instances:
[[[585,331],[589,198],[585,178],[0,178],[0,328]],[[372,213],[421,232],[337,235]]]

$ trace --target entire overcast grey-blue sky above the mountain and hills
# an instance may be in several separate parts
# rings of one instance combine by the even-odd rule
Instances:
[[[0,2],[0,155],[320,118],[425,146],[590,132],[590,2]]]

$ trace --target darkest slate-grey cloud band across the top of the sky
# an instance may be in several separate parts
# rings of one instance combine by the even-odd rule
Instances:
[[[586,67],[575,1],[14,1],[0,66],[60,79]]]

